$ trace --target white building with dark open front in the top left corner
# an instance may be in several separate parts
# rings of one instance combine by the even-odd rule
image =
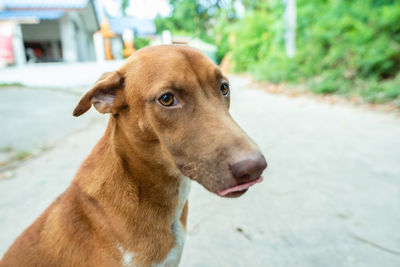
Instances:
[[[92,0],[0,0],[1,27],[12,28],[16,64],[95,60],[99,23]]]

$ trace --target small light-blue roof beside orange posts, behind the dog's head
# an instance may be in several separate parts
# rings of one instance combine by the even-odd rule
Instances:
[[[135,17],[110,18],[110,28],[114,33],[122,34],[125,29],[132,29],[138,35],[154,34],[156,26],[151,19],[139,19]]]

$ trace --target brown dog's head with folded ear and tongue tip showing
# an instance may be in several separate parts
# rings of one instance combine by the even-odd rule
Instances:
[[[240,196],[262,180],[267,163],[229,114],[228,79],[201,52],[180,45],[135,52],[104,74],[74,110],[93,105],[147,157],[220,196]],[[127,144],[128,145],[128,144]]]

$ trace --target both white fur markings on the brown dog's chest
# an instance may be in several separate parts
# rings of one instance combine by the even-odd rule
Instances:
[[[190,185],[191,180],[183,176],[179,187],[179,202],[175,211],[174,220],[171,225],[171,233],[175,237],[175,244],[169,251],[167,257],[160,263],[153,263],[152,267],[175,267],[179,264],[186,234],[180,218],[190,192]],[[135,264],[135,255],[133,253],[124,250],[122,247],[118,247],[118,250],[122,254],[122,266],[137,266]]]

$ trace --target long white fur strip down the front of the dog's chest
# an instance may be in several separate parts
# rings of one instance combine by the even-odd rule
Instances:
[[[163,262],[153,264],[152,267],[175,267],[178,266],[181,260],[183,245],[185,244],[185,231],[181,224],[180,218],[183,208],[189,196],[191,180],[186,176],[182,176],[181,184],[179,186],[179,202],[176,207],[174,221],[171,225],[171,232],[175,236],[175,245],[169,251],[167,257]]]

